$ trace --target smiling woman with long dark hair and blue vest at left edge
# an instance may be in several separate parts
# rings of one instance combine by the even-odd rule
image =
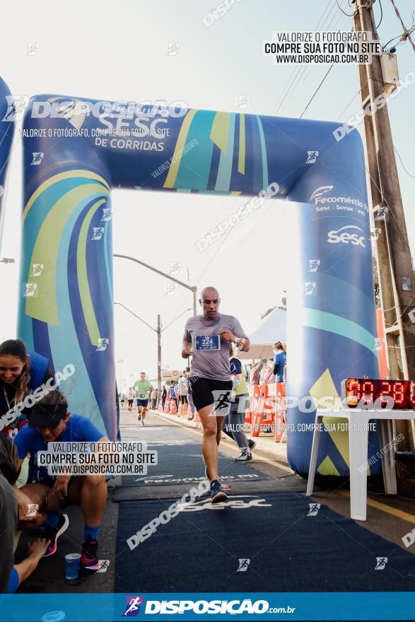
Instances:
[[[30,409],[6,425],[2,417],[52,377],[49,359],[26,350],[21,339],[8,339],[0,344],[0,431],[14,438],[28,423]]]

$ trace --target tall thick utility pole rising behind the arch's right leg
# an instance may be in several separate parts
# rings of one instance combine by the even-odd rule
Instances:
[[[374,1],[352,0],[351,7],[356,32],[370,32],[373,39],[378,39]],[[387,105],[376,110],[374,104],[384,93],[380,57],[373,55],[372,62],[359,65],[358,71],[363,110],[370,104],[370,110],[375,110],[365,115],[364,125],[373,207],[371,223],[380,231],[375,244],[388,367],[391,378],[415,380],[415,323],[410,315],[415,307],[415,282],[411,252]],[[382,212],[385,215],[380,219]],[[399,449],[414,451],[414,423],[399,421],[397,431],[405,436]]]

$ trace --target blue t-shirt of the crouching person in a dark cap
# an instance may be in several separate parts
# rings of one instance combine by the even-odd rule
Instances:
[[[71,414],[66,423],[66,430],[55,442],[96,442],[103,436],[103,433],[89,419],[81,415]],[[25,458],[30,452],[32,481],[56,479],[55,476],[47,474],[47,467],[37,467],[37,452],[47,451],[47,442],[43,440],[36,428],[29,428],[29,426],[21,428],[14,442],[19,458]]]

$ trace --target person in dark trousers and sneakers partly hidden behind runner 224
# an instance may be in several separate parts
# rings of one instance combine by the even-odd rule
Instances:
[[[230,410],[223,422],[222,430],[232,440],[235,440],[240,455],[235,458],[234,462],[249,462],[252,460],[251,450],[256,443],[252,439],[248,439],[245,434],[245,411],[249,404],[250,395],[248,393],[246,371],[238,358],[238,348],[232,344],[232,356],[230,356],[230,374],[233,383],[233,392],[235,399],[230,404]]]

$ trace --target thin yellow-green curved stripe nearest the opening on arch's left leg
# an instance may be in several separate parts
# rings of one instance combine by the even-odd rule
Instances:
[[[79,296],[81,298],[83,317],[85,319],[86,327],[88,328],[90,343],[95,346],[98,346],[99,344],[98,339],[100,339],[100,329],[98,328],[98,322],[95,317],[92,298],[90,297],[88,271],[86,269],[86,237],[88,235],[90,221],[92,220],[95,211],[97,211],[98,207],[105,203],[105,200],[106,199],[100,199],[99,201],[96,201],[90,211],[88,211],[79,232],[78,249],[76,251],[76,270],[78,273]]]

